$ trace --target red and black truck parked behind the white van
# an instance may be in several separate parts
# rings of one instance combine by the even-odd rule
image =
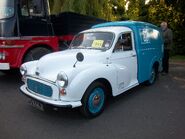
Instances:
[[[1,0],[0,70],[66,49],[76,33],[102,22],[71,12],[51,15],[48,0]]]

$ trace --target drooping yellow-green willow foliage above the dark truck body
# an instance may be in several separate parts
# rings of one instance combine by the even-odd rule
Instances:
[[[108,0],[50,0],[50,7],[52,14],[70,11],[105,18],[107,3]]]

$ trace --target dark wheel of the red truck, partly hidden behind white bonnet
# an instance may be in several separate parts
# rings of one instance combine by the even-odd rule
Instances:
[[[43,47],[38,47],[31,49],[24,57],[23,63],[28,62],[28,61],[33,61],[33,60],[38,60],[42,56],[51,53],[51,50]]]

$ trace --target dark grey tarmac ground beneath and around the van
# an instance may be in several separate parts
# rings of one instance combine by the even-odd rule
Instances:
[[[77,110],[50,113],[27,104],[17,75],[0,73],[0,139],[184,139],[185,64],[172,63],[156,84],[109,100],[88,120]]]

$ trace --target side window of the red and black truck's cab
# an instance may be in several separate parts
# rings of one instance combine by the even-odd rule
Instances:
[[[44,16],[44,8],[42,0],[21,0],[20,2],[21,15],[22,16]]]

